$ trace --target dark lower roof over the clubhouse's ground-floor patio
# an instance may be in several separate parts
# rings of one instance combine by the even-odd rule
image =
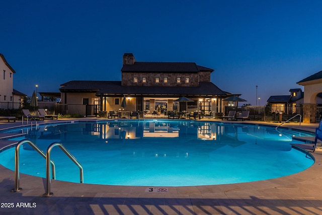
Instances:
[[[190,96],[225,96],[211,82],[200,82],[198,87],[165,86],[122,86],[121,81],[70,81],[61,85],[60,92],[96,92],[109,95],[190,95]]]

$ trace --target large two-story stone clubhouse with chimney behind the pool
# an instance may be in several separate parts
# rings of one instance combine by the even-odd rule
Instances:
[[[213,69],[194,62],[137,62],[132,53],[123,55],[121,81],[70,81],[61,85],[63,104],[94,105],[94,111],[152,112],[202,110],[223,111],[223,99],[231,94],[211,83]],[[175,102],[185,96],[194,102]]]

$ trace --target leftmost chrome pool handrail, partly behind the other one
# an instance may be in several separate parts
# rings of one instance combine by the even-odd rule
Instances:
[[[29,144],[36,152],[38,152],[44,159],[46,159],[46,155],[43,151],[41,151],[32,141],[30,141],[29,139],[23,139],[20,140],[16,146],[16,150],[15,150],[15,188],[12,189],[12,192],[19,192],[20,190],[22,190],[21,187],[19,187],[20,185],[20,147],[23,144]],[[55,172],[55,164],[53,161],[50,161],[50,164],[52,166],[52,179],[56,178],[56,172]]]

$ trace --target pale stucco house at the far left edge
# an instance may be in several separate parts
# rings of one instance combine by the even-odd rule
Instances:
[[[16,71],[0,53],[0,102],[21,102],[25,94],[14,90],[14,74]]]

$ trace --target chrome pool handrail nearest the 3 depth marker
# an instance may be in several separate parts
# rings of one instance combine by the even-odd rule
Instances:
[[[70,152],[67,151],[67,149],[60,143],[60,142],[53,142],[49,147],[47,148],[46,153],[46,193],[43,194],[43,197],[49,197],[52,196],[53,193],[50,192],[50,152],[55,147],[58,146],[67,156],[70,158],[74,164],[79,168],[79,175],[80,175],[80,183],[83,183],[84,181],[84,174],[83,174],[83,166],[73,157]]]

